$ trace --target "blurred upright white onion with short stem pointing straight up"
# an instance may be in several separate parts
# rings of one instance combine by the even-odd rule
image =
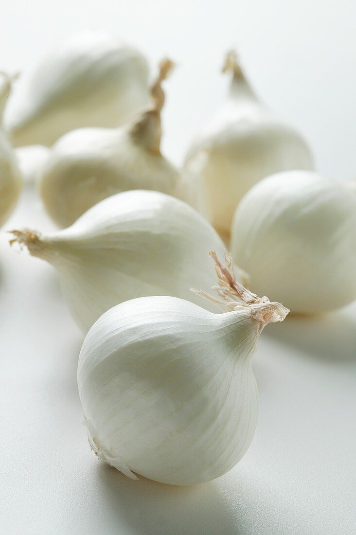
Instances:
[[[233,213],[249,188],[272,173],[313,169],[313,161],[302,137],[256,97],[236,53],[228,53],[223,71],[232,73],[230,93],[196,135],[185,172],[189,202],[201,210],[195,192],[202,187],[211,224],[228,239]]]

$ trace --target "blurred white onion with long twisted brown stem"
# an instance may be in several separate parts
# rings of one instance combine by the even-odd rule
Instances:
[[[151,92],[153,105],[120,128],[79,128],[52,147],[39,177],[49,217],[72,225],[104,198],[130,189],[154,189],[177,196],[179,172],[161,153],[161,83],[173,64],[160,63]]]

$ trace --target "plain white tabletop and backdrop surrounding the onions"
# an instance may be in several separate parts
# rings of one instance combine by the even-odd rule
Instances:
[[[312,144],[317,167],[356,176],[355,6],[338,2],[209,3],[18,0],[2,5],[0,68],[25,70],[74,30],[108,29],[166,83],[164,148],[179,163],[228,82],[236,45],[264,101]],[[51,225],[31,188],[3,231]],[[302,291],[302,289],[301,289]],[[120,535],[351,534],[355,503],[356,306],[269,326],[254,359],[260,418],[227,475],[198,487],[132,482],[101,465],[81,426],[76,368],[82,336],[56,274],[0,238],[0,532]]]

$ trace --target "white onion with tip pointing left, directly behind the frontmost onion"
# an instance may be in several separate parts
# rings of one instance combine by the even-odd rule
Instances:
[[[193,208],[140,190],[108,197],[62,231],[13,232],[12,241],[54,265],[84,332],[103,312],[133,297],[172,295],[199,302],[189,288],[207,291],[215,279],[207,251],[224,252],[214,228]]]

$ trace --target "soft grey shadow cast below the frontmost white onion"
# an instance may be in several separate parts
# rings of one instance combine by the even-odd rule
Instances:
[[[139,476],[125,477],[100,463],[97,476],[116,526],[126,523],[137,535],[236,535],[238,519],[224,500],[218,480],[187,487],[164,485]],[[113,526],[114,527],[114,526]]]

